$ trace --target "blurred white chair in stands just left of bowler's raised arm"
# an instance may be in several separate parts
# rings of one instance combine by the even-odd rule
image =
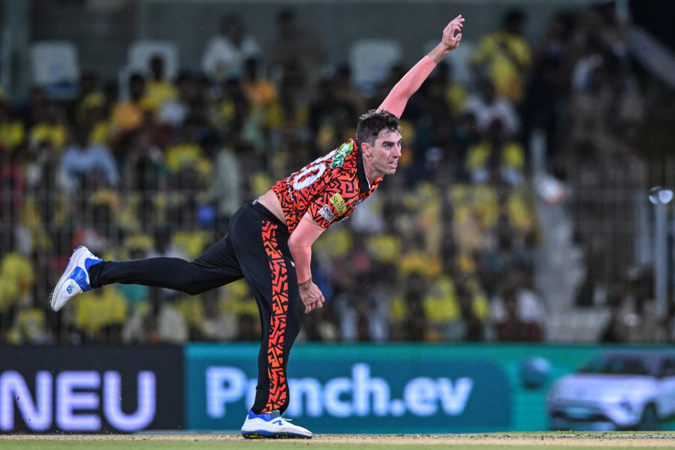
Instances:
[[[349,66],[354,84],[371,91],[392,65],[401,60],[401,45],[391,39],[361,39],[349,49]]]

